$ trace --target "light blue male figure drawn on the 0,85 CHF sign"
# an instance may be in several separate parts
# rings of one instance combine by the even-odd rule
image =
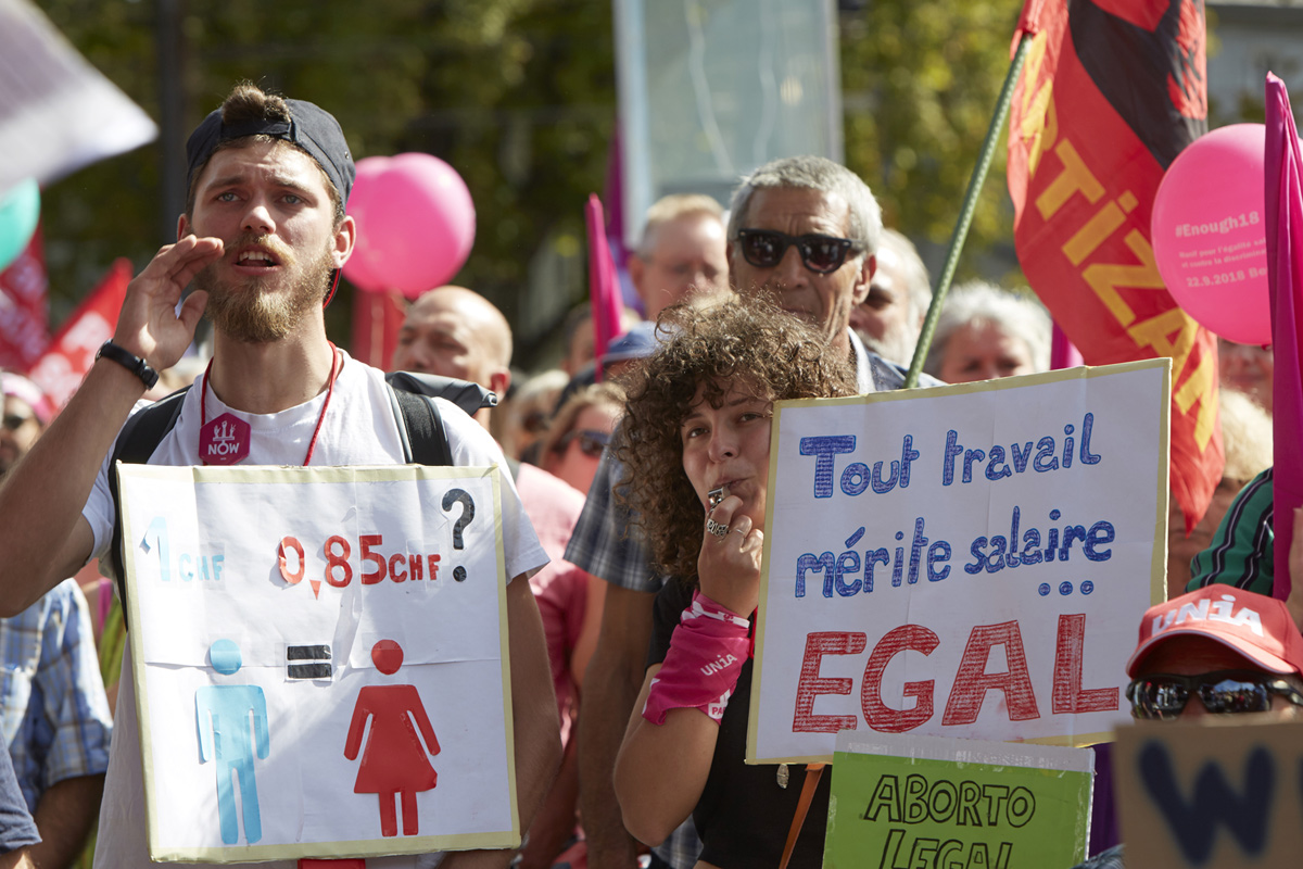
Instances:
[[[218,640],[208,648],[212,668],[224,676],[240,670],[240,646],[231,640]],[[258,786],[253,776],[253,749],[250,744],[250,715],[253,740],[258,757],[266,758],[267,698],[257,685],[205,685],[194,692],[194,715],[199,728],[199,762],[216,760],[218,813],[222,821],[222,840],[236,844],[240,825],[231,775],[240,776],[240,803],[244,805],[245,840],[253,844],[262,838],[262,819],[258,814]]]

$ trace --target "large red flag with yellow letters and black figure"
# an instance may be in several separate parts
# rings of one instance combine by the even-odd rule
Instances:
[[[1089,365],[1170,356],[1171,490],[1186,533],[1221,481],[1217,341],[1164,287],[1158,181],[1208,129],[1203,0],[1028,0],[1009,192],[1023,272]]]

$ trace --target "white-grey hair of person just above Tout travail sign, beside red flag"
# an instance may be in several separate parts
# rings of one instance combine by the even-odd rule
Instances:
[[[937,318],[937,331],[923,370],[937,377],[946,344],[962,326],[971,323],[997,326],[1006,335],[1020,337],[1032,357],[1032,367],[1036,371],[1050,370],[1050,315],[1045,307],[1029,296],[1011,293],[984,280],[960,284],[951,291]]]

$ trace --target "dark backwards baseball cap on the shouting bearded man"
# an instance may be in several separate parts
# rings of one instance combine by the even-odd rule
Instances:
[[[245,135],[263,134],[284,139],[306,151],[324,169],[340,199],[347,203],[357,169],[353,167],[353,155],[348,151],[348,142],[344,141],[344,130],[340,129],[339,121],[313,103],[301,99],[287,99],[285,103],[289,106],[288,121],[266,119],[223,124],[220,108],[210,112],[185,143],[185,156],[189,162],[185,175],[186,188],[194,184],[194,176],[207,164],[218,145]]]

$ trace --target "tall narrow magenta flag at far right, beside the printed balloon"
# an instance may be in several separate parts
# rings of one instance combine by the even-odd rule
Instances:
[[[1303,506],[1303,387],[1299,367],[1299,293],[1303,292],[1303,159],[1285,82],[1267,74],[1267,274],[1272,293],[1274,404],[1276,585],[1273,595],[1290,594],[1290,542],[1294,509]]]

